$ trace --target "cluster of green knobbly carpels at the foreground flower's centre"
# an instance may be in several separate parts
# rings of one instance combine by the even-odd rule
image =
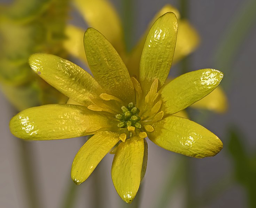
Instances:
[[[135,127],[137,129],[141,129],[140,124],[140,116],[138,116],[140,110],[133,105],[133,103],[129,103],[128,106],[121,107],[123,113],[116,114],[116,118],[120,121],[117,126],[119,128],[126,127]]]

